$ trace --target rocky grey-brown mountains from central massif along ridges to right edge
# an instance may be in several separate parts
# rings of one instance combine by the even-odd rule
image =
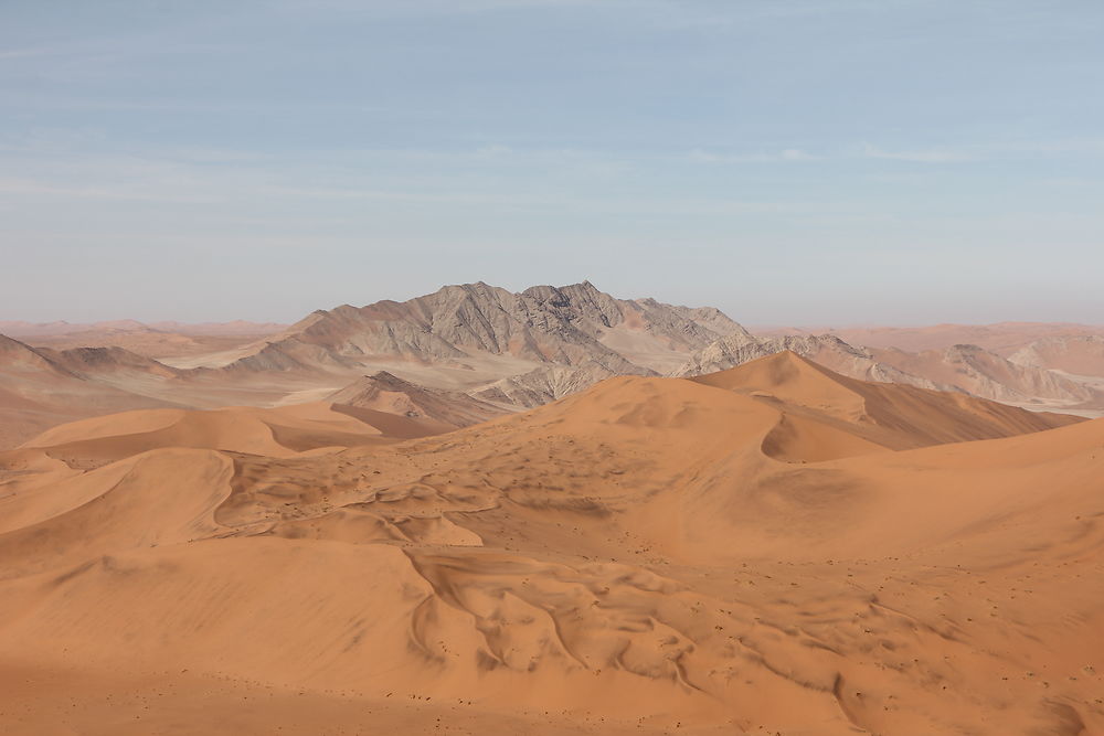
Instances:
[[[962,344],[912,353],[856,345],[835,334],[756,337],[714,308],[617,299],[588,281],[519,294],[478,282],[405,302],[317,311],[226,370],[384,369],[501,406],[532,407],[614,375],[692,376],[788,350],[866,381],[1040,407],[1104,407],[1104,386],[1062,375],[1049,363],[1061,354],[1068,366],[1104,375],[1104,350],[1094,342],[1104,338],[1084,335],[1081,328],[1073,335],[1055,330],[974,331],[1005,345],[1013,334],[1045,335],[1009,358]],[[1063,349],[1065,341],[1078,348]]]

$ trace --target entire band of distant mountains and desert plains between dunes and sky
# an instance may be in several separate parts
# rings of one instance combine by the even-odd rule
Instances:
[[[691,376],[783,350],[862,380],[1104,412],[1104,334],[1083,326],[866,330],[856,342],[753,335],[713,308],[617,299],[587,281],[519,294],[446,286],[404,302],[318,310],[291,326],[2,324],[12,333],[0,354],[4,446],[60,422],[129,408],[321,401],[380,372],[411,392],[466,394],[482,408],[465,416],[486,418],[611,376]],[[992,350],[944,344],[963,335]]]

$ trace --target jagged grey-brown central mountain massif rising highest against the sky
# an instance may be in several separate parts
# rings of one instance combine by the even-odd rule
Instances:
[[[590,280],[511,292],[484,281],[444,286],[407,301],[320,310],[237,361],[258,370],[327,371],[406,360],[463,366],[509,356],[520,375],[540,365],[596,361],[615,373],[646,374],[743,328],[720,310],[624,300]],[[666,361],[666,362],[665,362]],[[511,374],[507,374],[511,375]]]

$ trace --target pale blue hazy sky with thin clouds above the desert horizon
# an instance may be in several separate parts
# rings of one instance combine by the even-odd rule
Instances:
[[[1104,323],[1104,2],[4,0],[0,319]]]

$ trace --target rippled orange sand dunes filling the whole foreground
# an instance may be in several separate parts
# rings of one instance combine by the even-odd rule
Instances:
[[[36,704],[0,724],[158,682],[96,723],[1104,730],[1100,420],[779,354],[442,430],[160,410],[0,454],[0,680]]]

